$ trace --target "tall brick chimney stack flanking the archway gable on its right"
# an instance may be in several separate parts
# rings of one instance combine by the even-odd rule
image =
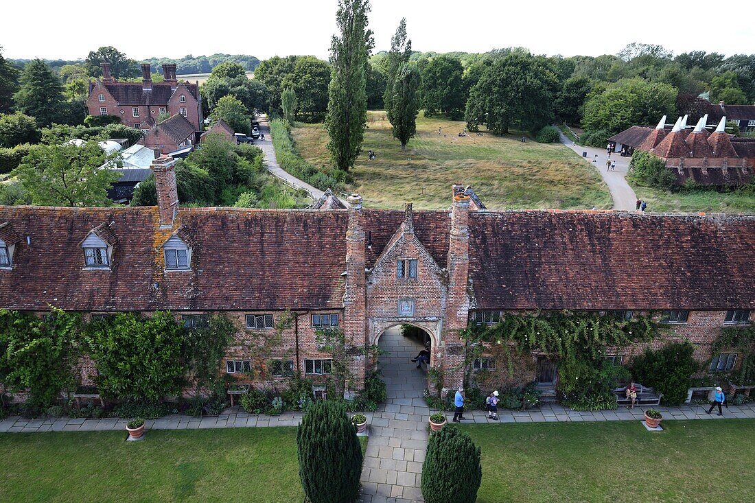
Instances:
[[[459,337],[459,332],[467,328],[470,307],[467,295],[470,267],[469,214],[470,197],[463,192],[454,196],[448,244],[448,295],[445,300],[442,336],[445,351],[444,386],[448,389],[464,383],[464,372],[458,370],[464,361],[464,343]]]

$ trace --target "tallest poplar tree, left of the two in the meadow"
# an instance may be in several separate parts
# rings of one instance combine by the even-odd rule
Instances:
[[[338,169],[349,171],[362,149],[367,125],[367,65],[374,45],[367,29],[369,0],[339,0],[336,23],[341,35],[331,40],[328,85],[328,150]]]

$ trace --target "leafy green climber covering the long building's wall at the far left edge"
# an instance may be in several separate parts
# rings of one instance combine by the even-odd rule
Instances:
[[[0,310],[0,382],[11,392],[28,390],[29,405],[51,405],[75,385],[82,319],[52,309],[44,319]]]

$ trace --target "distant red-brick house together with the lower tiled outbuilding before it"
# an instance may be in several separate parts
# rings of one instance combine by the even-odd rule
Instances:
[[[91,116],[116,116],[122,124],[141,129],[140,143],[171,153],[193,144],[203,131],[199,83],[178,82],[176,65],[162,65],[164,82],[152,82],[149,64],[142,65],[142,82],[118,82],[102,64],[102,79],[91,82],[87,107]]]

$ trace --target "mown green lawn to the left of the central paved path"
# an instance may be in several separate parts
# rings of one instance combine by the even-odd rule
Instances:
[[[0,434],[0,501],[302,501],[296,428]]]

